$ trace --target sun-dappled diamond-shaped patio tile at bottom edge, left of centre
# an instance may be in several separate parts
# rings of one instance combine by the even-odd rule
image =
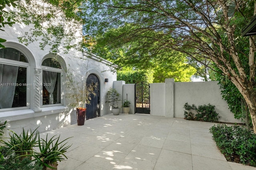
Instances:
[[[119,152],[118,150],[100,150],[100,152],[94,154],[86,162],[94,166],[99,166],[100,168],[113,169],[114,165],[119,164],[126,154]]]

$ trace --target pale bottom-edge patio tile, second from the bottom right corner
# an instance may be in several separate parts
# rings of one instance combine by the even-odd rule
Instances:
[[[192,155],[194,170],[232,170],[226,160],[216,160],[202,156]]]

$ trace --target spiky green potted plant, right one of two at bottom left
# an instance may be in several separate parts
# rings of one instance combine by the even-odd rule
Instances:
[[[71,145],[67,146],[67,142],[64,143],[67,139],[63,141],[59,141],[59,139],[60,136],[56,137],[56,135],[48,139],[48,134],[46,135],[46,139],[40,139],[40,136],[38,135],[38,148],[40,152],[34,151],[32,156],[36,158],[39,164],[49,168],[54,168],[49,164],[64,160],[62,156],[67,159],[64,153],[71,147]]]

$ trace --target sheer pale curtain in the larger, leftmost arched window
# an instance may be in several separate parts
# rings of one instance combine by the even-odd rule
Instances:
[[[0,58],[20,61],[20,53],[15,49],[2,49]],[[17,82],[18,66],[0,64],[0,108],[11,108]],[[14,84],[12,84],[14,83]]]

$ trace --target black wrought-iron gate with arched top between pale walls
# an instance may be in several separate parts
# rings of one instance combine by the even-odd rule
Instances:
[[[135,84],[135,113],[150,114],[150,86],[147,82]]]

